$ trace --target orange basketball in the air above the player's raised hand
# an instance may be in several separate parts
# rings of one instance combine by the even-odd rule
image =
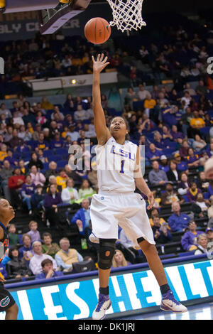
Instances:
[[[91,18],[84,26],[84,35],[89,42],[102,44],[106,42],[111,35],[111,27],[104,18]]]

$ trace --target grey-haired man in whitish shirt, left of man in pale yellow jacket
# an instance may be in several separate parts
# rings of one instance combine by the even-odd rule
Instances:
[[[50,257],[48,254],[42,254],[42,244],[40,241],[33,242],[33,252],[34,255],[30,260],[29,268],[33,272],[33,275],[38,275],[42,273],[41,262],[45,259],[50,259],[53,262],[53,269],[58,268],[57,263],[53,257]]]

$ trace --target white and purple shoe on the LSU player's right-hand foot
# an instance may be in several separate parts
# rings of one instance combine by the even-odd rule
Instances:
[[[176,301],[173,291],[171,290],[163,294],[160,309],[163,311],[173,311],[175,313],[187,312],[187,308],[179,303],[179,301]]]

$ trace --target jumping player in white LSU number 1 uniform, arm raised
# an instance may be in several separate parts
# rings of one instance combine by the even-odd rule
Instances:
[[[109,274],[115,242],[118,238],[118,224],[124,229],[134,247],[142,249],[150,269],[153,271],[162,293],[160,308],[163,311],[182,313],[187,308],[175,300],[168,286],[163,265],[155,248],[153,232],[146,213],[145,200],[136,187],[148,198],[150,210],[154,203],[153,194],[143,179],[139,148],[126,141],[129,130],[125,119],[114,117],[109,129],[106,126],[101,104],[99,73],[109,64],[107,57],[98,55],[93,61],[92,101],[94,127],[97,134],[97,176],[99,193],[92,196],[90,214],[92,220],[91,242],[99,243],[99,301],[92,318],[102,320],[111,306],[109,299]]]

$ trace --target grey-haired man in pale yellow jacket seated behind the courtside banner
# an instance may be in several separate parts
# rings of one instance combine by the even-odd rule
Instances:
[[[55,261],[62,271],[72,271],[72,264],[82,262],[82,255],[76,249],[70,248],[70,241],[64,237],[60,239],[60,251],[55,254]]]

